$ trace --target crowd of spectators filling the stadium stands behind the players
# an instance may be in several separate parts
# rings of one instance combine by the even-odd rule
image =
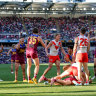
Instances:
[[[25,26],[25,27],[24,27]],[[71,17],[51,17],[44,19],[42,17],[0,17],[0,40],[11,39],[18,40],[20,32],[25,32],[25,29],[28,32],[28,35],[31,35],[32,29],[36,27],[39,30],[39,35],[42,39],[48,39],[49,41],[54,38],[54,33],[61,33],[61,40],[66,42],[72,42],[76,36],[79,35],[80,29],[85,27],[87,32],[92,30],[91,36],[95,36],[96,33],[96,17],[94,16],[82,16],[79,18]],[[28,36],[27,35],[27,36]],[[48,57],[46,56],[43,49],[39,48],[39,57],[40,62],[48,62]],[[7,51],[4,51],[5,53]],[[0,63],[8,63],[9,57],[5,53],[1,53]],[[92,62],[93,55],[90,53],[89,62]],[[6,60],[4,59],[6,58]],[[61,55],[61,62],[63,57]],[[5,61],[4,61],[4,60]]]

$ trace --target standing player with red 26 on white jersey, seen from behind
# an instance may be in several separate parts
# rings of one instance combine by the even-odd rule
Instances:
[[[87,52],[90,49],[90,41],[89,41],[89,37],[87,38],[85,36],[86,33],[86,29],[82,28],[80,35],[78,37],[75,38],[75,44],[74,44],[74,49],[73,49],[73,56],[75,58],[75,54],[76,54],[76,63],[79,64],[78,67],[78,78],[79,81],[82,82],[81,78],[81,67],[83,65],[85,73],[86,73],[86,84],[89,84],[89,70],[88,70],[88,54]],[[89,36],[89,34],[88,34]]]

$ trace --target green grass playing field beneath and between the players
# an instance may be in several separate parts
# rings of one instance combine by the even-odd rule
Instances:
[[[62,66],[61,64],[61,72]],[[38,78],[42,75],[47,64],[41,64],[38,74]],[[91,76],[94,75],[93,63],[89,64],[89,70]],[[33,77],[34,65],[32,65]],[[48,72],[46,77],[56,76],[56,67],[53,66],[52,70]],[[14,74],[10,73],[10,64],[0,64],[0,78],[3,82],[0,82],[0,96],[96,96],[96,80],[89,86],[50,86],[43,83],[28,84],[22,82],[22,71],[19,68],[18,83],[13,83]]]

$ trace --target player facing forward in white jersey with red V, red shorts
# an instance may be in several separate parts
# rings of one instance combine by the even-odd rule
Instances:
[[[48,68],[44,71],[43,75],[39,79],[38,82],[41,82],[43,80],[43,77],[47,72],[52,68],[53,63],[56,64],[57,67],[57,75],[60,75],[60,58],[58,55],[59,48],[61,48],[62,53],[65,55],[65,51],[62,47],[61,41],[60,40],[60,34],[55,35],[55,39],[52,40],[46,47],[46,54],[49,57],[49,66]],[[48,48],[50,48],[50,53],[48,53]]]

